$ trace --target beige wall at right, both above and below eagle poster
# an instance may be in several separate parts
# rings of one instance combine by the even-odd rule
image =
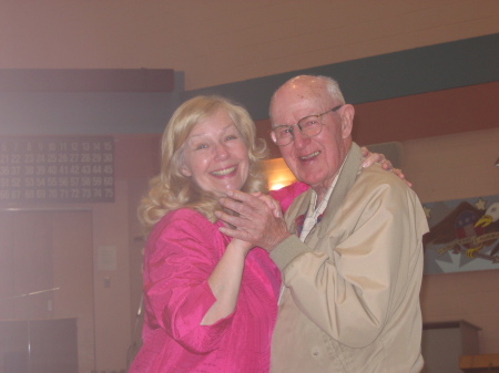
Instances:
[[[499,127],[407,141],[404,172],[422,203],[499,194]],[[427,274],[422,281],[425,322],[466,320],[481,328],[480,353],[499,351],[498,270]]]

